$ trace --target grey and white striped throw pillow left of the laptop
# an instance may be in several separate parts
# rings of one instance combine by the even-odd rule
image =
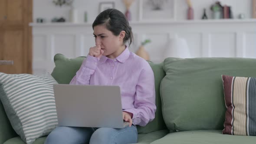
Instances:
[[[0,99],[10,123],[21,139],[32,144],[58,125],[50,75],[0,72]]]

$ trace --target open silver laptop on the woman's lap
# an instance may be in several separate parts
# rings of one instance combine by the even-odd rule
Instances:
[[[53,85],[59,126],[124,128],[119,86]]]

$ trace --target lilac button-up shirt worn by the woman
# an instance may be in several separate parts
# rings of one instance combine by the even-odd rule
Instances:
[[[115,59],[88,55],[70,84],[118,85],[122,109],[133,114],[134,125],[145,126],[154,119],[154,73],[147,61],[128,48]]]

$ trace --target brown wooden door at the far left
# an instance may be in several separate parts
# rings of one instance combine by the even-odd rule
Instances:
[[[0,0],[0,60],[13,60],[13,65],[0,65],[4,73],[32,73],[32,0]]]

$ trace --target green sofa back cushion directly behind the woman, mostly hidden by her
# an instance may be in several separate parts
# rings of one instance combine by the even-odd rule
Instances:
[[[69,84],[71,79],[75,76],[75,73],[82,65],[84,58],[85,57],[77,57],[74,59],[69,59],[62,54],[56,54],[54,56],[55,68],[52,72],[54,79],[56,79],[56,81],[60,84]],[[154,72],[157,111],[153,121],[149,122],[145,127],[137,127],[139,134],[147,134],[152,131],[167,129],[162,116],[160,98],[160,83],[165,75],[163,63],[155,64],[153,62],[149,62],[149,65],[151,65]]]

